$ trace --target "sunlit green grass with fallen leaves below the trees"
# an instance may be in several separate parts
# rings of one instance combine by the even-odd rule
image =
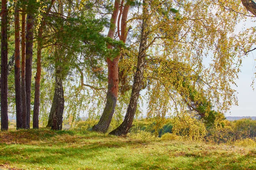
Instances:
[[[0,164],[13,170],[249,170],[256,169],[256,149],[71,130],[14,130],[0,132]]]

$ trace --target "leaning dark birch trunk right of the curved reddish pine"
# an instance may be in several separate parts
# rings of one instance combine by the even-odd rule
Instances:
[[[145,6],[144,6],[145,5]],[[134,76],[134,84],[132,86],[131,98],[128,105],[128,109],[125,115],[125,119],[122,124],[113,130],[110,134],[112,135],[125,135],[128,133],[132,126],[134,115],[137,108],[138,99],[140,96],[140,89],[142,87],[143,72],[145,68],[145,56],[147,48],[147,17],[148,17],[148,0],[143,0],[143,24],[141,31],[140,49],[138,55],[137,71]]]

